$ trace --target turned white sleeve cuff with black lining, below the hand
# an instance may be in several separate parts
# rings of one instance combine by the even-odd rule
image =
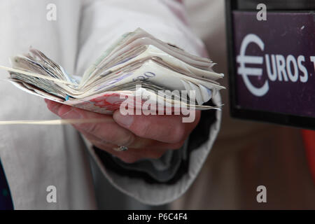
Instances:
[[[220,104],[219,94],[209,102],[209,105]],[[118,190],[145,204],[165,204],[183,195],[193,183],[214,144],[220,123],[221,111],[202,111],[200,123],[186,146],[165,154],[159,162],[143,160],[126,164],[98,148],[89,148],[104,176]]]

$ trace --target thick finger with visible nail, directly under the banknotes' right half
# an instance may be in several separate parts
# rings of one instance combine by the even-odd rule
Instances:
[[[200,111],[195,112],[196,116],[193,123],[183,123],[183,116],[123,116],[120,111],[113,113],[113,120],[138,137],[154,139],[169,144],[178,144],[185,141],[188,134],[190,134],[199,122]]]

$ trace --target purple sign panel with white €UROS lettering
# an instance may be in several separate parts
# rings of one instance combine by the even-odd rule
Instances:
[[[315,118],[311,13],[233,12],[237,106]]]

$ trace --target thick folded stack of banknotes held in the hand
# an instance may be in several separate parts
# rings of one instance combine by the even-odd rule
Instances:
[[[121,36],[83,76],[66,73],[34,48],[11,58],[11,63],[10,82],[20,89],[106,114],[137,97],[140,104],[150,100],[170,108],[215,109],[203,104],[224,88],[217,82],[223,74],[211,69],[210,59],[191,55],[140,28]]]

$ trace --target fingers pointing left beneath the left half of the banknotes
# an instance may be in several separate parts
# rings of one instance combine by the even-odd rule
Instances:
[[[48,109],[64,119],[88,119],[102,118],[102,123],[80,123],[73,124],[79,132],[92,142],[92,144],[102,145],[102,148],[127,146],[129,148],[150,148],[153,150],[178,149],[183,145],[183,141],[176,144],[166,144],[153,139],[145,139],[135,136],[130,130],[118,125],[112,116],[85,111],[73,106],[59,104],[57,102],[45,101]]]

